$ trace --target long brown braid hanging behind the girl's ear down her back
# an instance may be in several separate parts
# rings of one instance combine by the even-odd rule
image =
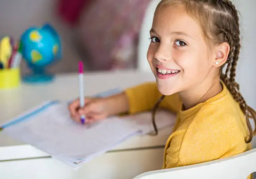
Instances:
[[[249,130],[249,136],[246,138],[246,142],[249,143],[251,142],[253,138],[253,130],[251,127],[251,123],[249,121],[249,118],[253,118],[254,123],[256,124],[256,112],[251,108],[248,107],[246,104],[246,101],[244,100],[243,96],[241,95],[239,91],[239,85],[235,81],[236,77],[236,66],[237,66],[237,61],[239,58],[239,53],[241,49],[240,45],[240,30],[239,30],[239,18],[238,18],[238,13],[235,8],[235,6],[229,1],[229,0],[221,0],[221,2],[226,3],[226,5],[229,6],[229,9],[231,10],[232,16],[236,20],[236,26],[237,31],[235,33],[231,33],[228,31],[225,31],[224,29],[221,30],[221,33],[224,36],[224,41],[227,41],[230,45],[230,53],[227,59],[227,69],[225,71],[225,74],[221,74],[221,79],[227,86],[228,90],[230,91],[231,95],[233,96],[234,100],[236,100],[243,113],[245,114],[246,117],[246,123],[248,125],[248,130]],[[229,73],[229,77],[228,77]],[[256,129],[254,130],[254,133],[256,133]]]

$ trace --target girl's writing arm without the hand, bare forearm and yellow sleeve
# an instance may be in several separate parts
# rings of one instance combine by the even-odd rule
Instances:
[[[151,110],[161,97],[156,83],[144,83],[128,88],[124,92],[106,98],[109,115],[121,113],[140,113]],[[179,110],[182,101],[178,94],[166,96],[160,107],[167,108],[174,112]]]

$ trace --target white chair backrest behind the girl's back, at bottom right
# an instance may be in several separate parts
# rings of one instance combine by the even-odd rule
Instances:
[[[133,179],[246,179],[256,172],[256,148],[201,164],[148,171]]]

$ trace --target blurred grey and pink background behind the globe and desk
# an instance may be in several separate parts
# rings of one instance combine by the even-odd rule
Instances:
[[[63,59],[54,73],[136,68],[136,43],[150,0],[0,0],[0,36],[18,40],[30,26],[50,23],[61,36]],[[132,12],[132,13],[131,13]],[[22,64],[21,72],[26,72]]]

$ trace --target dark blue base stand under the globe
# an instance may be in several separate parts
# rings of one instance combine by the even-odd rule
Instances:
[[[47,74],[43,68],[32,68],[32,73],[23,76],[22,80],[25,83],[49,83],[54,80],[54,75]]]

